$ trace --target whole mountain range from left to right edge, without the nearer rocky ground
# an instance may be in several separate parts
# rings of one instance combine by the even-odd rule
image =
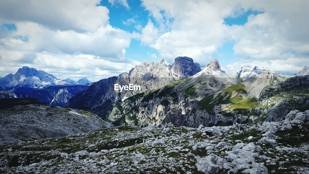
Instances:
[[[308,85],[307,75],[306,66],[296,76],[277,75],[259,66],[243,66],[229,75],[217,59],[201,68],[184,56],[177,57],[172,65],[164,59],[144,61],[128,73],[94,83],[87,78],[61,80],[22,67],[14,75],[2,77],[0,87],[2,98],[37,98],[49,105],[83,108],[115,125],[160,126],[171,122],[198,127],[280,120],[280,113],[306,108],[307,96],[302,92],[307,91],[301,88]],[[114,90],[114,84],[140,85],[141,90],[120,92]],[[289,94],[287,88],[291,89]],[[292,94],[299,96],[292,101]],[[285,109],[279,111],[284,104]]]

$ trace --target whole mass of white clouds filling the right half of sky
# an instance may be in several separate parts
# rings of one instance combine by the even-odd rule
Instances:
[[[218,48],[226,41],[235,43],[233,49],[240,64],[255,61],[274,66],[278,63],[276,70],[281,66],[289,72],[296,72],[301,66],[291,60],[299,59],[304,64],[309,58],[309,24],[306,19],[309,2],[305,0],[143,0],[142,5],[154,18],[142,28],[142,41],[165,59],[187,55],[205,64],[211,56],[218,54]],[[248,10],[262,13],[248,16],[244,25],[224,23],[225,18],[237,17]]]

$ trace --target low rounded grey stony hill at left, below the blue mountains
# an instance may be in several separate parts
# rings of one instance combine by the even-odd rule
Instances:
[[[0,122],[0,144],[63,137],[113,126],[83,110],[45,105],[2,109]]]

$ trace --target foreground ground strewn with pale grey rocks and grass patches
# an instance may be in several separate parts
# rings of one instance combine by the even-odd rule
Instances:
[[[226,127],[119,126],[0,147],[0,173],[309,173],[309,110]]]

